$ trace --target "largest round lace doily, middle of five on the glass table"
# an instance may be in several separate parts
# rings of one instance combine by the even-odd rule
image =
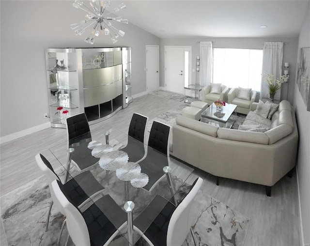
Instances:
[[[115,171],[123,167],[129,157],[128,154],[124,151],[112,151],[107,154],[103,154],[99,160],[99,166],[102,169]]]

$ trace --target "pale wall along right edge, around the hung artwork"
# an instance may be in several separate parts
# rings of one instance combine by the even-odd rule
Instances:
[[[310,48],[310,1],[302,29],[299,34],[298,47]],[[296,83],[294,83],[294,108],[296,111],[299,149],[297,160],[298,186],[304,244],[310,245],[310,111],[302,100]]]

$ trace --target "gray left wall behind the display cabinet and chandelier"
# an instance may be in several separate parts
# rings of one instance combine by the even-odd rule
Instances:
[[[1,137],[48,122],[43,117],[48,112],[46,48],[130,46],[132,94],[146,91],[145,45],[159,45],[159,38],[129,23],[120,24],[126,34],[116,44],[100,35],[93,46],[89,45],[84,39],[90,28],[82,36],[70,29],[70,24],[79,23],[85,16],[72,3],[73,0],[0,1]]]

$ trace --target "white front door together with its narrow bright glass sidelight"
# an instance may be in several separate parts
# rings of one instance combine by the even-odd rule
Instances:
[[[166,91],[183,94],[184,85],[189,82],[190,47],[165,47]]]

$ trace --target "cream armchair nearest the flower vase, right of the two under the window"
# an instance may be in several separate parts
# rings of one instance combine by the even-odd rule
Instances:
[[[244,96],[240,96],[239,92],[249,91],[249,100],[245,99]],[[243,93],[244,94],[244,93]],[[230,92],[227,94],[228,96],[228,103],[232,103],[237,105],[237,113],[241,114],[248,114],[251,111],[252,104],[255,102],[256,92],[252,91],[251,89],[244,89],[244,88],[232,88]]]

